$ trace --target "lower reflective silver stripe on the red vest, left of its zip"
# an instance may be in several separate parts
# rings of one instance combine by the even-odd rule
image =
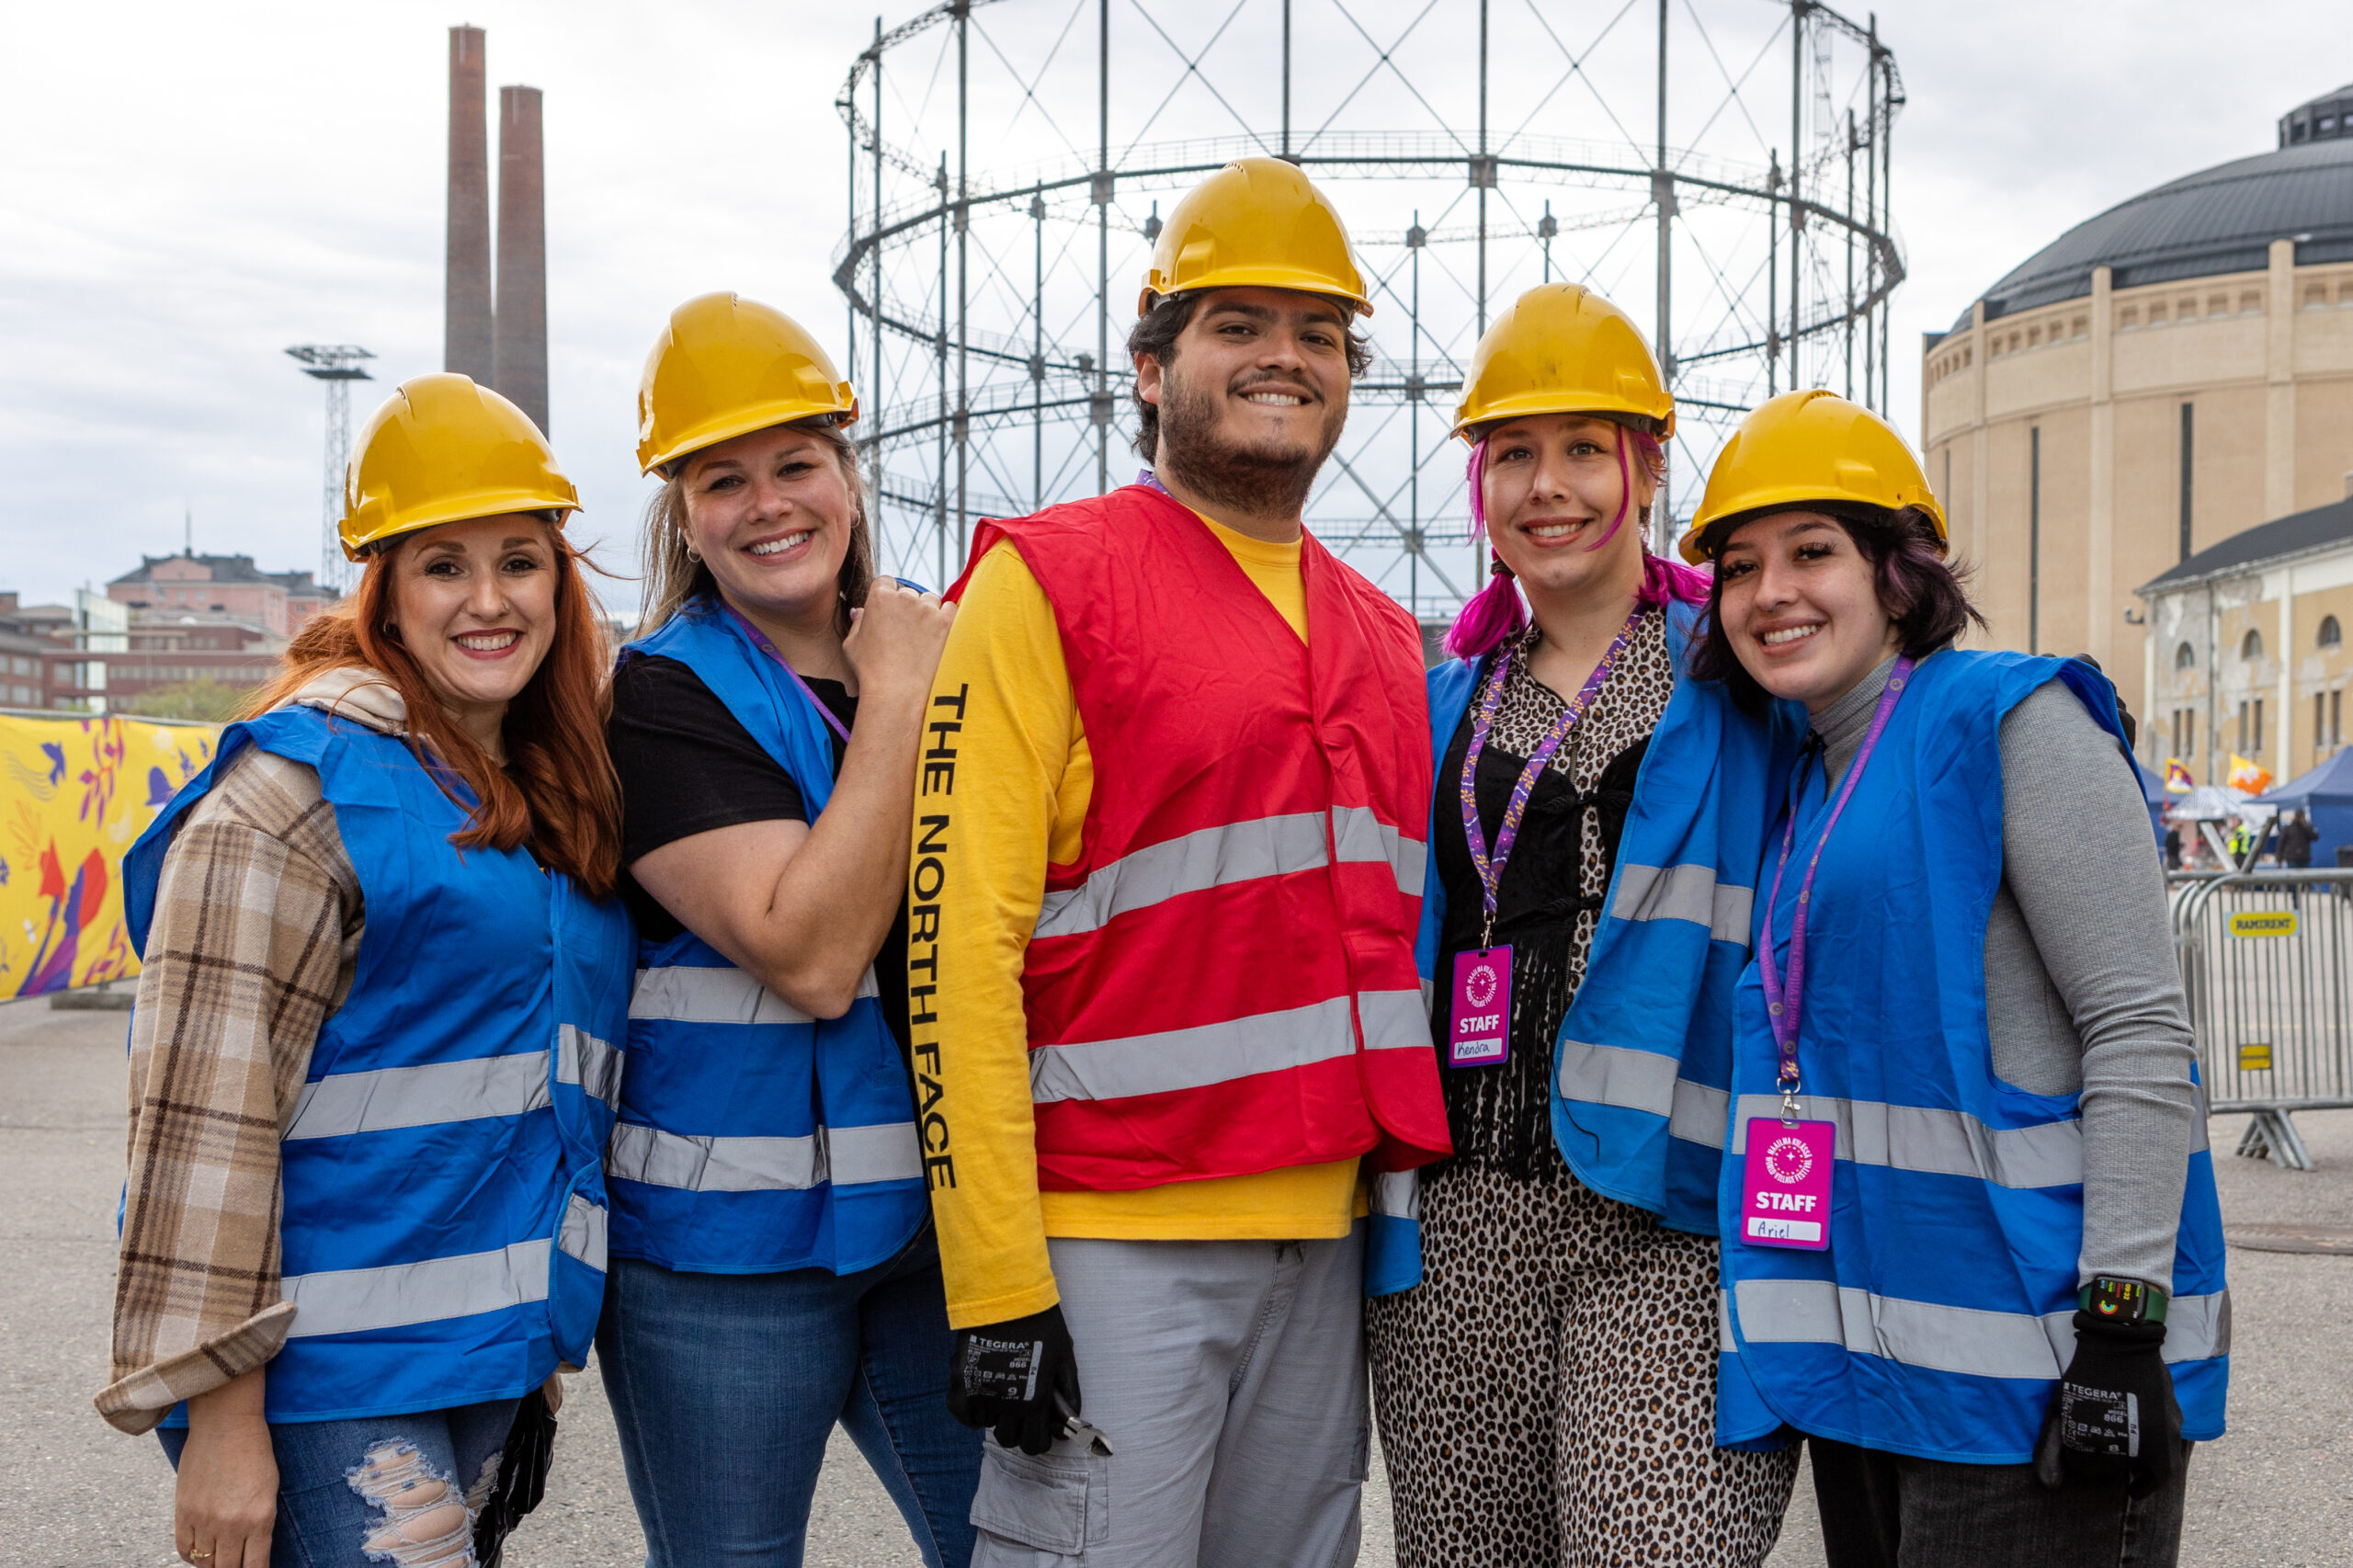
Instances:
[[[1426,1041],[1428,1026],[1424,1026]],[[1165,1095],[1346,1055],[1355,1055],[1355,1029],[1348,1022],[1348,998],[1334,996],[1306,1008],[1254,1012],[1198,1029],[1040,1045],[1031,1050],[1031,1099],[1052,1104]]]

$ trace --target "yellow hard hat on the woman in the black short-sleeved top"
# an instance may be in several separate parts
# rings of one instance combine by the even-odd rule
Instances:
[[[755,299],[696,294],[645,356],[638,471],[772,424],[859,417],[859,396],[807,327]]]

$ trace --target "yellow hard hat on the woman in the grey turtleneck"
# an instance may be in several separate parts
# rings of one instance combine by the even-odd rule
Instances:
[[[1937,551],[1946,544],[1944,506],[1894,426],[1817,388],[1767,398],[1732,431],[1682,537],[1682,558],[1706,560],[1713,553],[1706,534],[1725,518],[1807,506],[1918,506],[1937,525]]]

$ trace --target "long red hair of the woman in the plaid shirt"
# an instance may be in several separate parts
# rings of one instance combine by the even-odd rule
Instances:
[[[621,782],[605,751],[612,657],[595,593],[579,570],[579,551],[553,525],[548,542],[555,546],[555,636],[532,680],[506,709],[506,768],[466,735],[426,685],[409,650],[388,633],[391,567],[405,539],[374,551],[351,598],[294,636],[285,673],[261,687],[240,718],[282,706],[329,671],[374,669],[407,706],[409,751],[421,758],[431,746],[480,803],[449,843],[461,850],[513,850],[529,843],[541,864],[605,899],[621,873]],[[442,784],[442,791],[449,786]],[[454,793],[449,798],[456,800]]]

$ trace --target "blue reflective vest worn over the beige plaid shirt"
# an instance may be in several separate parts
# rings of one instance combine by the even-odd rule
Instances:
[[[527,850],[456,850],[468,808],[405,739],[289,706],[231,725],[125,855],[136,946],[174,826],[245,746],[318,772],[367,909],[351,994],[318,1031],[280,1144],[294,1326],[266,1415],[527,1394],[588,1361],[605,1300],[598,1156],[619,1099],[628,913]]]

